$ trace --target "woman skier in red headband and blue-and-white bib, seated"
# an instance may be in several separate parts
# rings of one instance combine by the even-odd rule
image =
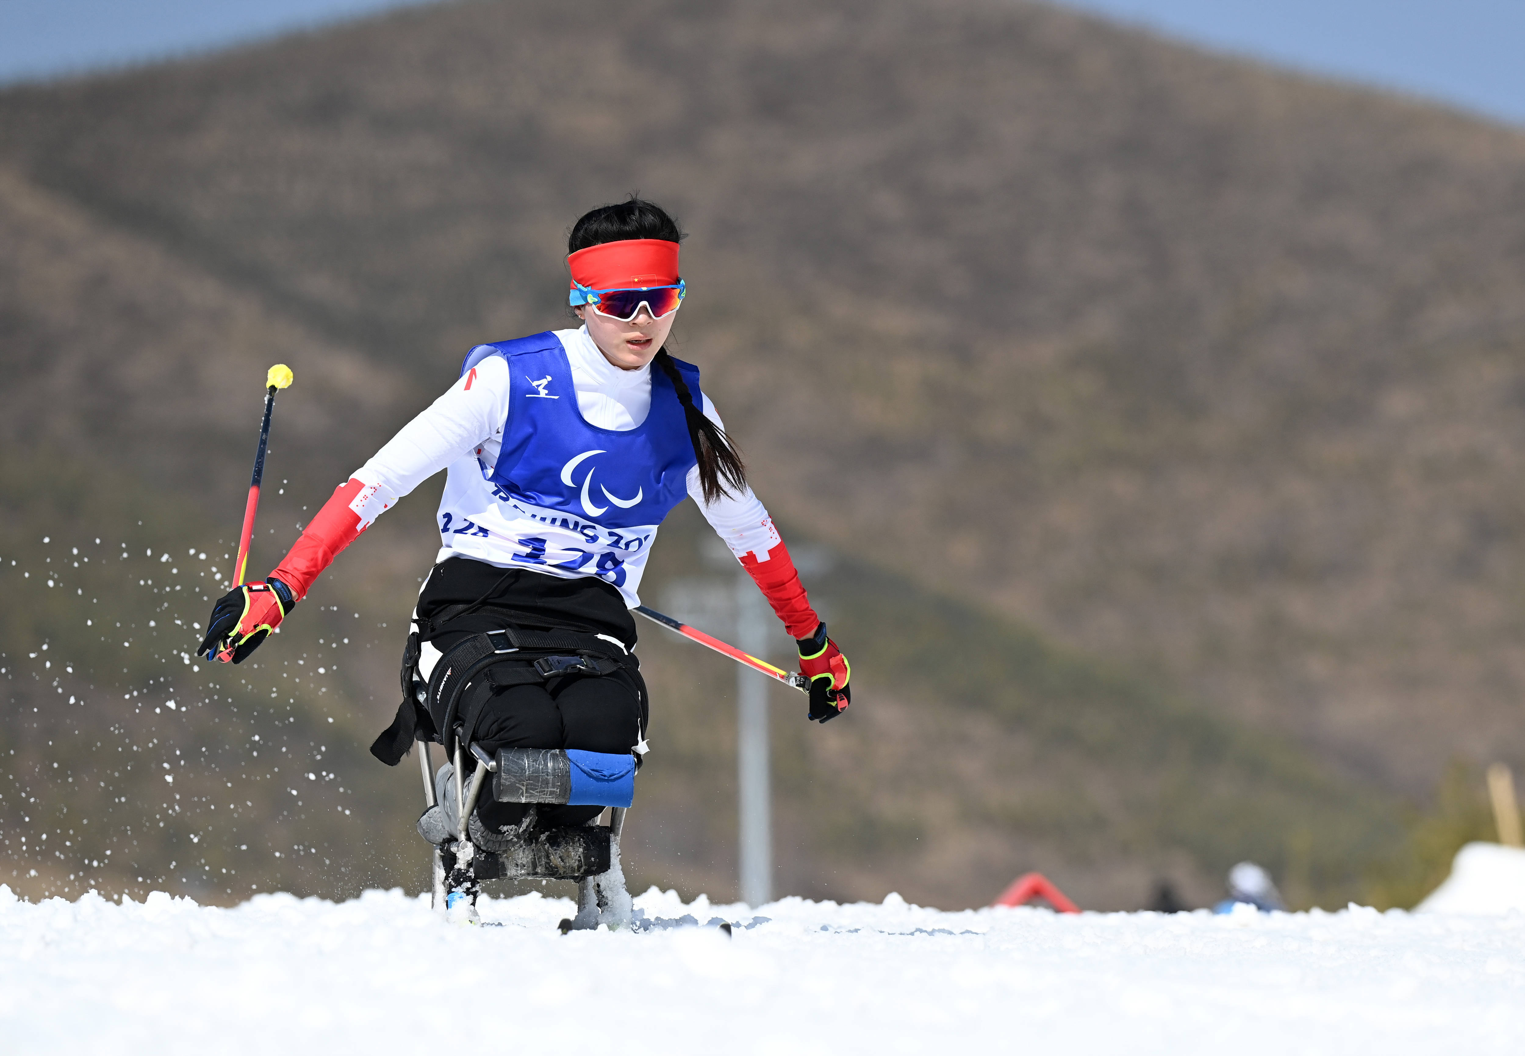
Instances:
[[[447,755],[461,739],[488,755],[561,748],[639,761],[650,710],[630,609],[657,526],[685,496],[798,641],[810,719],[840,714],[846,659],[747,487],[698,368],[663,346],[685,296],[682,238],[666,212],[634,197],[578,220],[567,266],[583,327],[473,348],[454,385],[355,470],[262,583],[217,603],[201,652],[241,662],[377,516],[447,470],[441,548],[404,656],[409,699],[372,746],[383,761],[395,765],[415,737],[445,743]],[[506,665],[450,696],[441,656],[505,627],[541,646],[525,650],[541,665]],[[547,644],[569,656],[547,658]],[[429,685],[425,699],[413,679]],[[534,823],[578,826],[601,809],[541,809]],[[525,804],[485,797],[473,839],[491,845],[525,815]]]

